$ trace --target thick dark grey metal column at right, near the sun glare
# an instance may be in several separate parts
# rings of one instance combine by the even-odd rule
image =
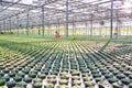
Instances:
[[[110,38],[112,38],[113,32],[113,0],[111,0],[111,10],[110,10]]]

